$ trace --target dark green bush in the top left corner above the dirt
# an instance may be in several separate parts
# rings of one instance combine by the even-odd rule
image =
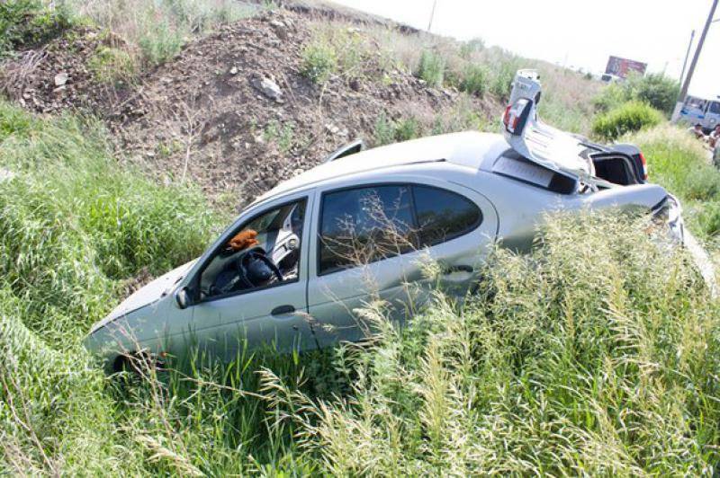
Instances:
[[[0,2],[0,56],[55,38],[71,26],[64,4],[52,7],[41,0]]]

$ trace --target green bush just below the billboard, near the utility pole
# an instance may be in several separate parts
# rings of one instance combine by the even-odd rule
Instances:
[[[670,116],[679,94],[680,84],[661,73],[630,75],[625,82],[609,84],[593,103],[598,111],[608,111],[624,102],[646,102]]]

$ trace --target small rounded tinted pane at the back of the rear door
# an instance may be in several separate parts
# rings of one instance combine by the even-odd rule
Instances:
[[[473,201],[449,190],[413,186],[419,245],[430,246],[464,235],[480,226],[482,212]]]

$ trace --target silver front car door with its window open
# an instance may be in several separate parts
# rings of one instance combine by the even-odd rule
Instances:
[[[245,221],[239,221],[239,226],[234,233],[246,229],[248,224],[253,224],[262,217],[272,216],[275,210],[293,209],[302,206],[304,217],[298,221],[301,227],[297,234],[299,264],[297,275],[293,279],[275,282],[271,285],[253,287],[237,290],[229,294],[200,297],[199,302],[193,305],[194,323],[219,323],[211,337],[205,337],[211,341],[213,351],[229,357],[230,359],[245,346],[251,349],[273,348],[277,351],[307,350],[315,347],[312,338],[310,323],[307,319],[307,258],[310,245],[307,235],[311,226],[312,194],[286,197],[275,200],[252,212],[252,217]],[[293,214],[292,212],[290,214]],[[258,219],[259,218],[259,219]],[[287,243],[280,243],[281,237],[287,237],[288,231],[284,231],[285,225],[290,223],[288,217],[273,219],[278,225],[284,225],[280,229],[269,231],[267,234],[257,235],[259,245],[267,248],[266,255],[277,260],[280,248]],[[230,235],[232,236],[232,234]],[[237,235],[236,235],[237,236]],[[268,246],[268,237],[273,238],[273,243]],[[220,244],[220,247],[223,245]],[[255,247],[255,246],[254,246]],[[212,256],[207,260],[212,262]],[[206,267],[210,270],[211,265]],[[201,284],[203,270],[198,274]],[[217,276],[216,276],[217,277]],[[202,287],[202,286],[198,286]]]

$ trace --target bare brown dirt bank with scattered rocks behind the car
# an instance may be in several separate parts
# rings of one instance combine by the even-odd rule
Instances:
[[[300,73],[310,20],[281,9],[221,27],[132,84],[112,88],[94,82],[87,66],[107,40],[78,31],[6,68],[5,90],[35,111],[93,111],[107,121],[125,161],[158,181],[195,181],[235,207],[338,146],[372,138],[381,114],[411,115],[429,128],[459,101],[455,91],[381,70],[379,55],[365,61],[362,75],[313,84]],[[487,101],[472,102],[491,114]]]

